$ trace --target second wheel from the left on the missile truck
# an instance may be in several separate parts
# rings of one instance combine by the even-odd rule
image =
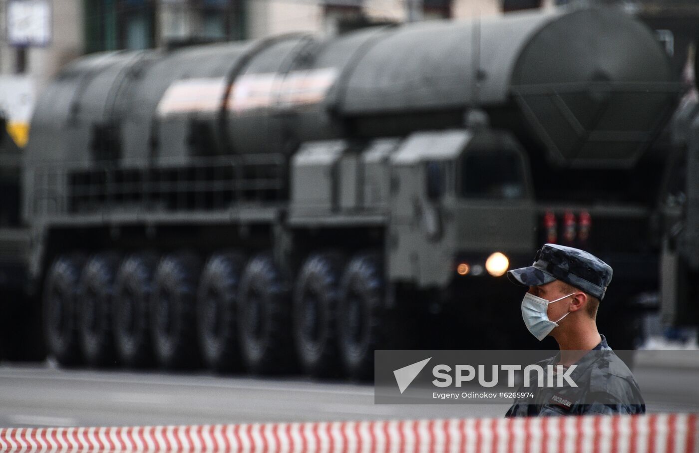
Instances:
[[[87,261],[80,274],[80,350],[85,362],[92,366],[115,364],[112,296],[118,265],[119,256],[116,253],[97,253]]]

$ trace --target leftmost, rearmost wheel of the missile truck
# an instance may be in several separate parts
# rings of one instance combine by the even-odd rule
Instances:
[[[44,334],[49,355],[62,365],[80,363],[80,341],[75,314],[80,271],[85,257],[80,253],[60,255],[46,275],[43,290]]]

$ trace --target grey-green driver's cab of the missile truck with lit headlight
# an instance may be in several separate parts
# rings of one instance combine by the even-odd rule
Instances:
[[[508,133],[410,135],[391,156],[389,276],[419,288],[503,276],[510,258],[532,256],[532,192],[526,154]]]

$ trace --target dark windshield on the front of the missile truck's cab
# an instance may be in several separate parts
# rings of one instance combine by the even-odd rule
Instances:
[[[461,159],[461,196],[519,200],[526,195],[521,158],[512,152],[471,151]]]

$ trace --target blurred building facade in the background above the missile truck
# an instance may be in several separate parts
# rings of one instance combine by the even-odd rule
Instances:
[[[338,34],[369,24],[487,17],[575,2],[645,8],[655,20],[654,28],[665,27],[678,15],[691,28],[698,18],[682,9],[697,10],[696,1],[690,0],[0,0],[0,112],[11,110],[5,117],[24,112],[64,64],[91,52],[261,38],[291,31]],[[43,25],[27,13],[32,10],[27,6],[48,11]],[[664,15],[668,10],[674,13]],[[33,31],[27,24],[34,24]],[[48,39],[39,44],[17,43],[12,39],[17,27],[34,33],[44,27]],[[686,45],[690,35],[667,36],[668,46]],[[18,108],[18,103],[24,106]],[[20,121],[26,119],[24,113],[19,116]]]

